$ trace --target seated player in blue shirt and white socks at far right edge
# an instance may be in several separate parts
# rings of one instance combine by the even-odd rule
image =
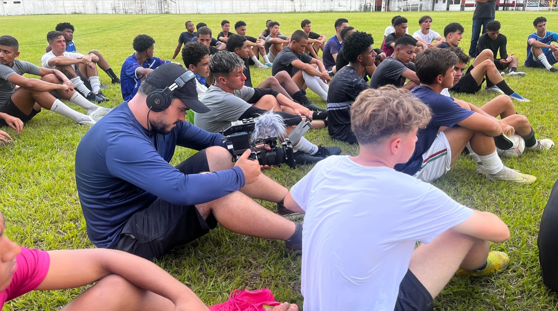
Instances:
[[[537,31],[527,38],[527,59],[525,67],[546,68],[550,72],[558,72],[552,65],[558,62],[558,33],[546,31],[546,18],[535,18],[533,26]]]

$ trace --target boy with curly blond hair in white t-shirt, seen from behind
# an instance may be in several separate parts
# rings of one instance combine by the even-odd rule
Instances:
[[[506,223],[393,169],[411,157],[429,108],[384,86],[360,93],[351,112],[358,156],[316,164],[285,198],[306,214],[304,310],[432,310],[456,271],[506,269],[506,253],[489,252],[489,241],[509,239]]]

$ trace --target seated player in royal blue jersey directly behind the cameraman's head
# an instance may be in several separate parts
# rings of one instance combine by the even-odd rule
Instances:
[[[132,47],[136,52],[126,58],[120,70],[120,80],[122,81],[120,86],[124,100],[131,100],[136,95],[141,81],[145,80],[148,73],[158,66],[170,62],[153,56],[155,40],[148,35],[137,35]]]

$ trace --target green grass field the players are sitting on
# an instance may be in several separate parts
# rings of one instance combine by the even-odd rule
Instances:
[[[409,19],[410,32],[419,29],[418,20],[424,12],[404,13]],[[432,29],[442,33],[449,22],[460,22],[464,28],[461,47],[468,51],[472,12],[427,12],[434,18]],[[59,22],[71,22],[75,28],[78,51],[92,49],[102,52],[117,74],[124,59],[133,53],[132,40],[147,33],[156,40],[155,55],[170,59],[177,37],[184,31],[184,22],[205,22],[220,31],[220,21],[244,20],[248,35],[257,36],[267,19],[281,23],[286,34],[300,29],[300,21],[309,18],[312,30],[326,36],[334,34],[336,18],[348,18],[350,25],[372,33],[379,47],[384,28],[396,12],[387,13],[288,13],[288,14],[208,14],[179,15],[76,15],[69,16],[9,16],[2,17],[2,32],[20,41],[20,59],[40,65],[45,52],[46,33]],[[544,70],[525,69],[527,36],[534,31],[532,21],[545,15],[548,29],[558,31],[558,14],[552,12],[497,12],[502,30],[508,37],[508,52],[519,57],[523,78],[506,77],[508,84],[530,103],[517,104],[519,113],[530,119],[538,137],[558,139],[555,97],[558,76]],[[180,57],[179,57],[180,58]],[[178,59],[177,59],[178,60]],[[252,67],[254,85],[271,74],[271,70]],[[110,84],[104,72],[102,82]],[[110,97],[108,106],[121,103],[118,85],[110,85],[104,94]],[[309,92],[315,103],[325,106],[318,96]],[[482,105],[494,95],[481,91],[474,96],[458,96]],[[75,107],[75,106],[74,106]],[[80,108],[76,108],[80,109]],[[6,129],[4,129],[6,130]],[[70,119],[43,111],[25,126],[21,134],[9,129],[14,144],[0,147],[0,209],[6,218],[6,235],[18,244],[44,250],[93,247],[85,230],[74,180],[75,149],[88,127],[76,125]],[[344,154],[357,154],[358,147],[334,142],[326,129],[307,134],[316,144],[337,144]],[[177,148],[172,164],[179,163],[193,152]],[[546,153],[526,153],[504,160],[509,167],[533,174],[538,181],[530,186],[492,183],[474,172],[472,159],[463,157],[449,174],[435,185],[455,200],[500,216],[509,225],[511,239],[492,245],[493,250],[506,251],[511,265],[501,275],[482,279],[451,280],[436,299],[438,310],[556,310],[558,299],[542,284],[538,250],[538,224],[557,179],[558,148]],[[287,167],[265,172],[286,187],[291,187],[310,167],[291,170]],[[366,189],[363,189],[366,191]],[[264,206],[272,208],[269,203]],[[367,208],[363,206],[363,208]],[[374,237],[358,237],[365,241]],[[184,247],[178,247],[157,262],[177,279],[190,286],[208,305],[222,302],[237,288],[270,288],[277,300],[302,305],[300,293],[300,256],[285,249],[283,242],[256,239],[233,234],[222,228]],[[440,264],[443,264],[442,262]],[[432,266],[432,269],[436,269]],[[8,310],[47,310],[60,308],[83,289],[35,292],[7,304]],[[366,299],[363,297],[363,299]]]

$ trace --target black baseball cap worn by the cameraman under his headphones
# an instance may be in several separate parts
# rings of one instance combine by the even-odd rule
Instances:
[[[172,97],[179,98],[186,106],[196,111],[196,113],[207,113],[211,111],[211,109],[198,100],[195,79],[196,76],[194,72],[187,71],[179,64],[168,62],[151,71],[146,76],[145,82],[148,82],[158,89],[170,88],[173,84],[177,84],[178,86],[184,84],[182,87],[172,90]]]

